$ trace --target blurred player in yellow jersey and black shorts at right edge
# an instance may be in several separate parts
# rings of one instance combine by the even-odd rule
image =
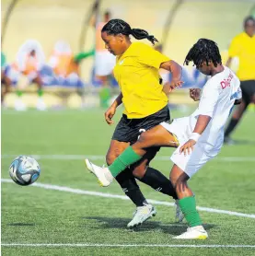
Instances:
[[[241,81],[243,100],[234,112],[225,132],[225,143],[233,144],[230,134],[237,126],[250,103],[255,103],[255,19],[244,20],[244,31],[238,34],[230,44],[226,65],[229,66],[234,57],[239,59],[237,76]]]

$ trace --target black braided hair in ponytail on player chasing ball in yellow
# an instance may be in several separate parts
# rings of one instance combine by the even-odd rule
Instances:
[[[124,20],[119,18],[110,19],[110,21],[105,24],[102,32],[107,32],[109,35],[118,35],[122,34],[125,36],[132,35],[137,40],[147,39],[151,41],[152,44],[155,44],[156,38],[144,29],[131,29],[130,25]]]

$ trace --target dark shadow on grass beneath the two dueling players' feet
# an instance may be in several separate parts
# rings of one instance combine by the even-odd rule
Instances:
[[[128,229],[127,224],[131,221],[130,218],[116,218],[116,217],[103,217],[103,216],[87,216],[81,217],[82,219],[90,220],[86,223],[86,226],[93,227],[94,229],[109,229],[120,228]],[[92,220],[92,222],[91,222]],[[96,222],[96,223],[95,223]],[[216,227],[214,224],[204,224],[203,227],[206,230]],[[146,221],[143,225],[129,229],[134,232],[146,232],[146,231],[159,231],[171,235],[180,235],[187,230],[186,223],[162,223],[159,221]]]

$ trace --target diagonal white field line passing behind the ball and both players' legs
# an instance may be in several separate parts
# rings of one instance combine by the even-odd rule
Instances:
[[[14,181],[10,180],[10,179],[1,179],[1,182],[13,183],[14,185],[16,185],[14,183]],[[94,195],[94,196],[100,196],[100,197],[106,197],[106,198],[117,198],[117,199],[122,199],[122,200],[130,200],[125,195],[111,194],[111,193],[106,193],[106,192],[83,191],[83,190],[72,189],[72,188],[68,188],[68,187],[51,185],[51,184],[43,184],[43,183],[38,183],[38,182],[32,184],[31,186],[42,188],[45,190],[53,190],[53,191],[59,191],[59,192],[72,192],[72,193],[77,193],[77,194],[86,194],[86,195]],[[156,201],[156,200],[149,199],[148,202],[151,204],[174,206],[173,203],[169,203],[169,202],[165,202],[165,201]],[[214,214],[220,214],[220,215],[235,215],[235,216],[240,216],[240,217],[255,218],[255,215],[237,213],[237,212],[208,208],[208,207],[197,206],[197,209],[200,211],[203,211],[203,212],[207,212],[207,213],[214,213]]]

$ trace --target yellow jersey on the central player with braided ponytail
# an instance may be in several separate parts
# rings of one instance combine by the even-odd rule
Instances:
[[[168,104],[158,70],[160,64],[169,60],[143,42],[133,42],[117,56],[113,73],[121,87],[124,114],[129,119],[144,118]]]

